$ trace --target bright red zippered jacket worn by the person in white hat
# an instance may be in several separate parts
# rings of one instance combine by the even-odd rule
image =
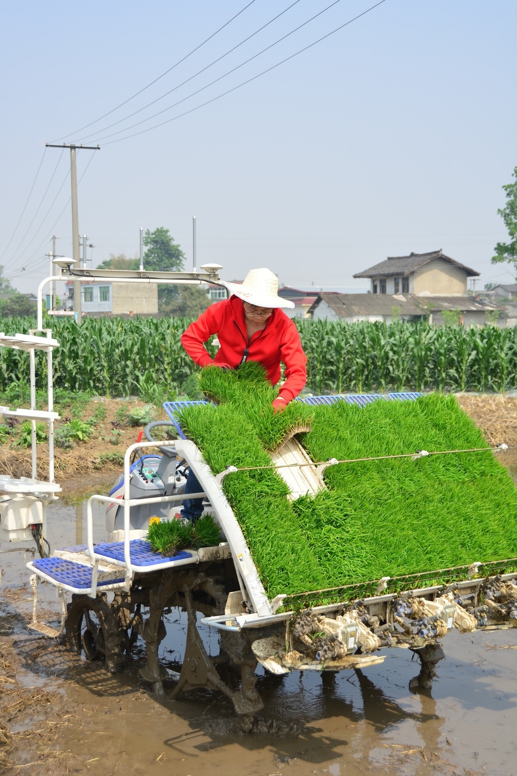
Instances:
[[[220,344],[215,361],[203,344],[212,334],[217,334]],[[280,362],[283,362],[285,383],[278,396],[286,401],[297,397],[307,381],[307,359],[298,329],[279,307],[275,307],[273,314],[267,318],[265,329],[253,334],[248,342],[243,302],[238,296],[230,296],[227,300],[210,305],[198,320],[190,324],[181,335],[181,345],[200,366],[222,363],[233,369],[242,363],[247,348],[246,360],[262,364],[273,386],[280,379]]]

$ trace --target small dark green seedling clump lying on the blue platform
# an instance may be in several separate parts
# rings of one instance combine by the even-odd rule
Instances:
[[[221,531],[211,514],[203,514],[195,525],[184,520],[151,523],[146,539],[155,553],[174,556],[181,549],[199,549],[219,544]]]

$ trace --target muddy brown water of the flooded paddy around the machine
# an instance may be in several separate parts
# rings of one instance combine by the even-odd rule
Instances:
[[[52,546],[84,542],[85,514],[81,501],[51,505]],[[96,539],[104,538],[103,530],[103,515],[95,511]],[[26,583],[22,556],[0,559],[2,586]],[[55,591],[42,585],[39,590],[43,608],[55,618]],[[12,606],[29,611],[28,596],[20,598]],[[178,670],[184,615],[173,610],[166,625],[161,656]],[[216,654],[215,633],[202,635]],[[20,621],[16,649],[26,658],[22,681],[47,686],[70,714],[55,744],[70,755],[48,771],[39,766],[33,771],[29,763],[37,758],[27,752],[12,773],[517,776],[517,629],[453,632],[443,647],[446,659],[437,667],[433,689],[416,694],[408,691],[408,682],[419,664],[408,650],[384,650],[384,663],[362,672],[273,677],[259,669],[261,716],[291,732],[240,736],[233,732],[233,707],[222,695],[198,691],[178,702],[159,702],[138,677],[138,660],[111,676],[102,663],[88,663],[28,634]],[[29,715],[26,725],[32,724]]]

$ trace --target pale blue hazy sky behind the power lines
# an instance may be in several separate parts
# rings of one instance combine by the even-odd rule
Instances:
[[[198,265],[219,262],[224,279],[267,266],[290,285],[359,288],[365,281],[353,273],[387,255],[443,248],[481,272],[478,287],[513,282],[508,265],[490,263],[495,242],[506,239],[497,215],[501,186],[517,165],[510,0],[385,0],[222,99],[110,142],[253,78],[375,2],[339,0],[189,96],[333,2],[298,0],[195,75],[294,2],[254,0],[157,83],[81,131],[248,2],[2,4],[0,253],[43,157],[0,259],[5,275],[23,292],[35,291],[47,275],[52,234],[60,238],[57,252],[71,255],[70,152],[43,155],[46,140],[67,140],[102,146],[78,154],[79,176],[91,161],[79,186],[79,224],[95,245],[94,265],[110,253],[134,255],[140,226],[164,226],[190,266],[195,214]]]

